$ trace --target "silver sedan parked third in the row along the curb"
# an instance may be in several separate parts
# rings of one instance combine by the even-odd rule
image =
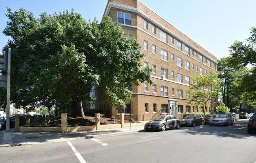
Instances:
[[[214,115],[212,119],[208,121],[209,125],[234,125],[234,119],[230,114],[218,114]]]

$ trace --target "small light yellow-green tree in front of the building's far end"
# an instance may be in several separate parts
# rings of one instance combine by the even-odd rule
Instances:
[[[218,78],[218,73],[214,73],[192,76],[192,81],[194,84],[190,84],[191,87],[188,89],[190,93],[188,104],[193,104],[196,107],[204,106],[205,114],[207,105],[210,105],[210,100],[218,96],[221,80]]]

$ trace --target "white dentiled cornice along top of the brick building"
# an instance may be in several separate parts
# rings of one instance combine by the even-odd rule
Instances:
[[[175,33],[173,33],[172,31],[170,31],[169,29],[167,29],[166,27],[164,27],[162,24],[160,24],[159,22],[157,22],[156,20],[150,18],[150,16],[146,15],[145,13],[143,13],[143,11],[139,10],[138,8],[135,7],[131,7],[131,6],[126,6],[126,5],[122,5],[122,4],[116,4],[113,2],[109,2],[106,11],[104,13],[104,16],[108,16],[111,7],[117,8],[117,9],[123,9],[125,11],[130,11],[133,13],[137,13],[141,16],[143,16],[144,18],[146,18],[147,20],[150,20],[150,22],[154,23],[155,25],[157,25],[158,27],[160,27],[161,29],[163,29],[164,31],[166,31],[167,33],[169,33],[171,36],[175,37],[176,39],[179,39],[181,42],[185,43],[187,46],[189,46],[190,48],[196,50],[198,53],[202,54],[203,56],[205,56],[206,58],[208,58],[209,60],[211,60],[212,62],[218,64],[218,62],[214,59],[212,59],[210,56],[208,56],[207,54],[204,54],[202,51],[200,51],[199,49],[197,49],[196,47],[194,47],[192,44],[188,43],[187,41],[185,41],[183,38],[177,36]]]

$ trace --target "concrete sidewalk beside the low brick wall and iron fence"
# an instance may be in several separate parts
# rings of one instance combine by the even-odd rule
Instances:
[[[32,145],[41,143],[54,143],[61,141],[69,141],[72,139],[79,138],[96,138],[98,136],[112,136],[119,134],[127,134],[131,132],[139,132],[144,130],[144,126],[138,127],[125,127],[119,129],[108,129],[108,130],[95,130],[95,131],[84,131],[84,132],[70,132],[70,133],[56,133],[56,132],[14,132],[11,129],[13,144],[14,145]],[[4,131],[0,131],[0,147],[7,146],[2,145]]]

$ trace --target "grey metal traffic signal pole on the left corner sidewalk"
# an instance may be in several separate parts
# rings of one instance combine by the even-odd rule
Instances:
[[[10,85],[11,85],[11,48],[8,48],[7,59],[7,98],[6,98],[6,130],[2,144],[12,144],[13,139],[10,132]],[[5,63],[6,64],[6,63]]]

